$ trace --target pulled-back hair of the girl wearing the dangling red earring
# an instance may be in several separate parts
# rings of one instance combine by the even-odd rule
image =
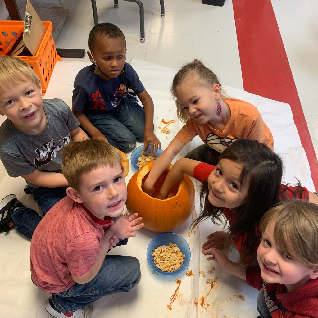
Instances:
[[[176,92],[180,88],[180,85],[184,84],[185,81],[187,84],[195,87],[201,85],[211,87],[214,84],[218,84],[222,87],[218,77],[209,68],[205,67],[202,61],[194,59],[192,62],[182,66],[173,78],[171,93],[176,103],[177,116],[179,120],[183,122],[188,121],[190,117],[177,100]]]

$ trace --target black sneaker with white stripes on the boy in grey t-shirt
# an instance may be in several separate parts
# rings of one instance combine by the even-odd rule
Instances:
[[[25,207],[14,194],[9,194],[0,201],[0,233],[8,232],[14,227],[11,213],[17,208]]]

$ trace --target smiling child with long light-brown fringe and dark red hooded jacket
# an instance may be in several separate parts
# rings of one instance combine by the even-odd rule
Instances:
[[[290,199],[267,211],[260,228],[259,265],[244,268],[216,249],[210,259],[259,289],[261,318],[317,318],[318,205]]]

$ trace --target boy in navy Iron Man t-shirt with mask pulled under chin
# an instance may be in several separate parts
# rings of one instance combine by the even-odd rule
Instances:
[[[88,36],[93,65],[84,67],[74,81],[72,111],[93,139],[109,142],[121,151],[143,141],[151,152],[161,147],[153,132],[154,104],[135,70],[126,60],[126,40],[114,24],[100,23]],[[131,89],[141,100],[127,93]]]

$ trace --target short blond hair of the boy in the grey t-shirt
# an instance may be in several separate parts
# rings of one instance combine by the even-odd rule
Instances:
[[[31,66],[14,56],[0,55],[0,70],[1,91],[7,89],[8,84],[18,84],[25,79],[31,79],[36,86],[40,83],[38,75],[34,73]]]

